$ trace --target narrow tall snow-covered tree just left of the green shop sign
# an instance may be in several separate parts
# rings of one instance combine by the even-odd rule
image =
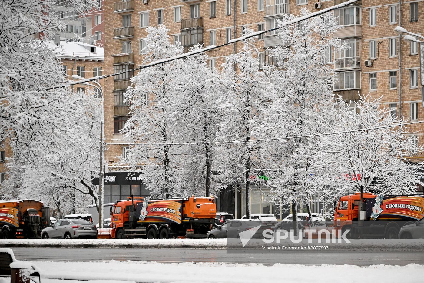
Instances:
[[[246,30],[248,34],[250,30]],[[221,123],[216,133],[220,142],[243,140],[245,143],[226,144],[223,153],[226,159],[220,166],[223,179],[242,186],[245,190],[246,215],[250,218],[250,184],[251,171],[261,170],[258,158],[259,149],[252,138],[260,139],[266,130],[262,125],[261,109],[268,104],[273,91],[265,73],[259,68],[259,51],[254,46],[255,38],[245,40],[243,49],[226,58],[221,66],[222,72],[218,82],[221,93],[217,101]]]

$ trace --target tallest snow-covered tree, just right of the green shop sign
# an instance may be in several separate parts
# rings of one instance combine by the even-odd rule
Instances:
[[[308,13],[303,8],[300,17]],[[278,24],[295,18],[286,16]],[[332,14],[327,13],[278,30],[278,37],[285,44],[270,49],[270,56],[276,60],[270,74],[276,95],[267,120],[275,136],[319,133],[318,117],[333,119],[335,97],[329,87],[332,66],[325,55],[329,48],[341,48],[340,41],[333,38],[338,27]],[[295,230],[298,204],[304,204],[310,212],[310,198],[322,189],[313,182],[317,173],[316,169],[311,170],[314,142],[315,139],[296,138],[277,140],[268,146],[273,171],[268,183],[276,204],[291,205]]]

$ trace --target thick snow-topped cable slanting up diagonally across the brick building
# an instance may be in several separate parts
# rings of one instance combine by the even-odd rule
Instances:
[[[216,46],[211,45],[211,46],[208,46],[208,47],[205,47],[205,48],[197,49],[195,51],[191,51],[191,52],[187,52],[187,53],[184,53],[184,54],[179,54],[179,55],[176,55],[176,56],[173,56],[173,57],[158,60],[158,61],[155,61],[155,62],[151,62],[149,64],[142,65],[138,68],[130,69],[130,70],[127,70],[127,71],[122,71],[120,73],[108,74],[108,75],[103,75],[103,76],[95,76],[95,77],[92,77],[92,78],[89,78],[89,79],[81,79],[79,81],[69,82],[69,83],[66,83],[66,84],[56,85],[56,86],[53,86],[53,87],[50,87],[50,88],[46,88],[46,90],[50,90],[50,89],[54,89],[54,88],[63,88],[63,87],[71,86],[71,85],[78,85],[78,84],[82,84],[84,82],[91,82],[91,81],[98,80],[98,79],[106,79],[110,76],[116,76],[116,75],[125,74],[125,73],[128,73],[128,72],[138,71],[138,70],[142,70],[142,69],[145,69],[145,68],[160,65],[160,64],[163,64],[163,63],[171,62],[171,61],[176,60],[176,59],[181,59],[181,58],[189,57],[189,56],[192,56],[192,55],[195,55],[195,54],[200,54],[200,53],[203,53],[205,51],[211,51],[213,49],[221,48],[223,46],[230,45],[230,44],[233,44],[235,42],[239,42],[239,41],[246,40],[248,38],[256,37],[258,35],[265,34],[265,33],[270,32],[270,31],[276,31],[277,29],[285,27],[287,25],[293,25],[293,24],[301,22],[303,20],[307,20],[307,19],[310,19],[312,17],[320,16],[320,15],[325,14],[327,12],[334,11],[335,9],[338,9],[338,8],[343,8],[344,6],[348,6],[348,5],[353,4],[355,2],[358,2],[358,1],[359,0],[348,0],[348,1],[340,3],[338,5],[322,9],[321,11],[316,11],[316,12],[307,14],[303,17],[298,17],[294,20],[287,21],[287,22],[283,23],[282,26],[270,28],[266,31],[257,31],[257,32],[254,32],[252,34],[245,35],[243,37],[237,37],[237,38],[235,38],[233,40],[229,40],[229,42],[223,43],[221,45],[216,45]]]

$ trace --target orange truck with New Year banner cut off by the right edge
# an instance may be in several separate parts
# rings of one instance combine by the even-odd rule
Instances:
[[[397,239],[402,226],[424,217],[424,195],[363,193],[362,218],[358,209],[360,201],[360,193],[335,201],[334,226],[338,235],[349,229],[347,238]]]

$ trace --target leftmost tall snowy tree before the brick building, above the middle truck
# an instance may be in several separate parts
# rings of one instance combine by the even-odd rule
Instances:
[[[146,52],[143,64],[183,53],[181,45],[170,43],[165,26],[147,28]],[[139,143],[170,143],[177,140],[173,125],[172,99],[181,79],[182,59],[142,69],[131,78],[134,88],[126,93],[130,103],[131,118],[122,133],[129,141]],[[181,172],[181,156],[178,146],[136,145],[128,150],[124,161],[129,166],[143,167],[142,181],[154,198],[182,194],[184,176]]]

